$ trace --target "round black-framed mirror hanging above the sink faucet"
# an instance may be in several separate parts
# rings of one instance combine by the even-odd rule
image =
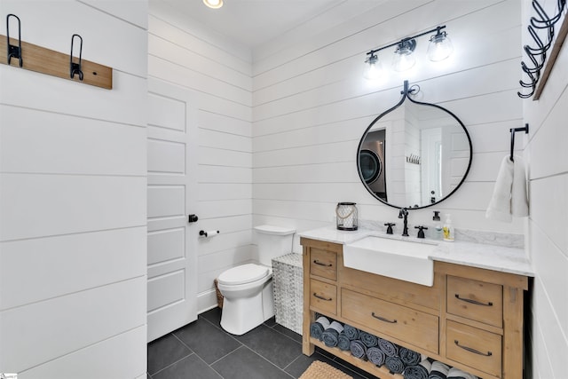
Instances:
[[[422,209],[446,200],[471,167],[473,148],[463,122],[445,107],[413,99],[419,91],[405,81],[398,103],[379,114],[359,140],[359,178],[393,208]],[[380,172],[373,170],[375,156]]]

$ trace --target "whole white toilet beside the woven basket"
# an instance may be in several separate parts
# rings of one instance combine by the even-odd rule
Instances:
[[[260,265],[239,265],[222,272],[217,287],[223,299],[221,328],[241,336],[274,315],[272,258],[292,251],[296,230],[280,226],[256,226]]]

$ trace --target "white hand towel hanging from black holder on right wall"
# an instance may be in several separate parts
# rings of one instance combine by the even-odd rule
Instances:
[[[508,155],[501,162],[493,197],[489,201],[485,217],[510,223],[512,216],[525,217],[528,215],[525,163],[517,155],[515,155],[515,162],[511,162]]]

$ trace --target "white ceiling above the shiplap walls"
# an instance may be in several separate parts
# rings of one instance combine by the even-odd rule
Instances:
[[[350,0],[224,0],[220,9],[201,0],[162,1],[253,50]]]

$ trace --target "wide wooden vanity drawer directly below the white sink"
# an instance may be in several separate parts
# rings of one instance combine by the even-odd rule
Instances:
[[[438,354],[438,317],[345,288],[341,303],[344,319]]]

